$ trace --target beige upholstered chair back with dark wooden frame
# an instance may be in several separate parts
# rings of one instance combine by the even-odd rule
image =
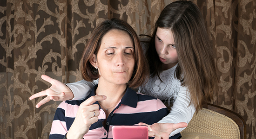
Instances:
[[[246,139],[246,124],[239,114],[208,103],[181,134],[182,139]]]

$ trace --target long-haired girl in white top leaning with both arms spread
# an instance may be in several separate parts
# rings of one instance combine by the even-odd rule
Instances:
[[[149,136],[166,139],[181,132],[184,128],[171,130],[173,123],[189,123],[195,111],[213,98],[218,80],[212,51],[202,13],[193,2],[179,0],[163,9],[146,53],[151,76],[139,92],[166,102],[170,113],[149,126]],[[71,90],[63,84],[63,88],[52,84],[46,91],[31,96],[34,99],[47,95],[36,107],[51,99],[85,98],[88,95],[85,90],[88,92],[95,81],[67,84]]]

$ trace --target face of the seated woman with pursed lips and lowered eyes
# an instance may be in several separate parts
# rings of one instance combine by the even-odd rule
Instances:
[[[127,32],[110,30],[102,40],[97,53],[96,66],[99,82],[126,84],[135,66],[135,48]]]

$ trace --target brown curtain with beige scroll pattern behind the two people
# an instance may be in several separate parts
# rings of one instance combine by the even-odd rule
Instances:
[[[112,17],[151,33],[174,0],[0,0],[0,139],[47,139],[56,107],[28,98],[50,87],[40,76],[81,80],[79,61],[94,27]],[[240,114],[256,138],[256,0],[193,0],[215,48],[212,103]],[[215,83],[215,82],[213,82]]]

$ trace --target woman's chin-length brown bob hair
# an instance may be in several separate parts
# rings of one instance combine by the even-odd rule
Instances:
[[[104,35],[111,30],[120,30],[128,33],[133,41],[135,48],[135,67],[132,77],[128,82],[128,86],[131,88],[137,88],[148,80],[149,69],[146,58],[143,55],[139,38],[134,29],[128,25],[128,23],[120,19],[105,20],[99,24],[88,39],[88,42],[83,51],[81,59],[81,74],[84,80],[93,81],[99,78],[98,70],[90,63],[89,59],[96,55],[101,46],[101,40]]]

